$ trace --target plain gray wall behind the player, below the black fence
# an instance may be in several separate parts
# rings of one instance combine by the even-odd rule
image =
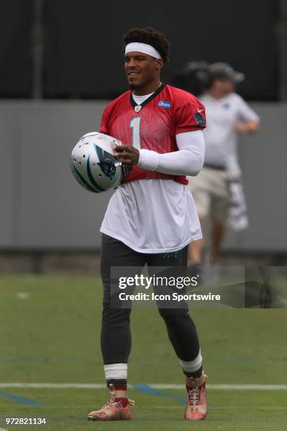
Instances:
[[[98,130],[106,101],[0,102],[0,249],[91,249],[110,193],[77,185],[69,157]],[[252,104],[262,119],[239,144],[250,227],[226,249],[286,251],[287,104]]]

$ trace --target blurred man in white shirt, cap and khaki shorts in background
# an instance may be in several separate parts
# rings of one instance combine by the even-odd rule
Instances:
[[[197,177],[189,177],[189,187],[196,202],[196,208],[203,228],[210,216],[211,248],[210,261],[219,257],[220,246],[224,239],[231,191],[241,199],[234,198],[233,205],[241,211],[234,211],[237,225],[244,225],[245,201],[241,187],[241,169],[237,158],[237,132],[253,133],[258,130],[259,117],[236,94],[236,84],[244,79],[227,63],[213,63],[208,72],[210,82],[208,91],[200,97],[205,105],[208,125],[204,130],[205,163]],[[236,185],[237,184],[237,185]],[[241,219],[239,219],[241,218]],[[203,239],[189,246],[189,263],[197,267],[202,261]]]

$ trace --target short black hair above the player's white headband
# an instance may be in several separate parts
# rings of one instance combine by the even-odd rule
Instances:
[[[124,35],[125,46],[132,42],[141,42],[153,46],[159,53],[163,63],[169,61],[170,42],[163,33],[158,32],[153,27],[131,28]]]

